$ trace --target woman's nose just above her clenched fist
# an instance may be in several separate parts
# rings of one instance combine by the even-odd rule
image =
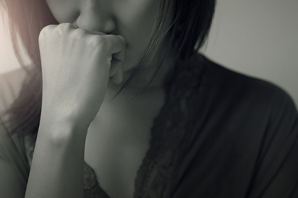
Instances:
[[[81,0],[79,15],[73,24],[89,31],[111,33],[116,22],[110,10],[106,0]]]

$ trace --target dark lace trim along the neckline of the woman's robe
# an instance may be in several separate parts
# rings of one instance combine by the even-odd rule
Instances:
[[[180,67],[182,70],[176,70],[168,79],[165,104],[153,120],[150,147],[135,178],[134,198],[169,198],[174,192],[180,179],[180,162],[196,134],[194,125],[199,110],[196,103],[204,60],[203,55],[194,55],[188,64]],[[35,140],[36,137],[28,136],[24,140],[29,166]],[[84,198],[109,198],[86,162]]]

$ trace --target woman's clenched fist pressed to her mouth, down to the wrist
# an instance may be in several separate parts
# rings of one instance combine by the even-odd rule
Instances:
[[[48,25],[39,34],[42,68],[41,117],[52,122],[90,124],[106,93],[109,77],[122,81],[123,37]]]

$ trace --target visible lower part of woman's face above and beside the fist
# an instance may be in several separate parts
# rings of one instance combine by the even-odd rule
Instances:
[[[152,33],[160,0],[46,0],[59,23],[121,35],[127,42],[123,72],[138,65]]]

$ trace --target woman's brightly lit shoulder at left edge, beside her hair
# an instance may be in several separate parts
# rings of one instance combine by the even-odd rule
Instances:
[[[17,98],[27,73],[19,68],[0,74],[0,113]]]

